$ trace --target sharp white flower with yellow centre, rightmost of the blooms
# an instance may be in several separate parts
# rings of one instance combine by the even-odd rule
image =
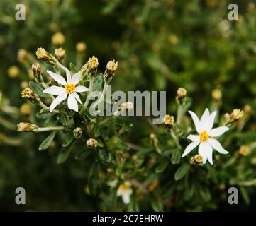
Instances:
[[[194,112],[189,111],[194,124],[196,126],[196,131],[199,135],[189,135],[187,139],[193,141],[190,143],[187,148],[184,150],[182,157],[186,156],[199,145],[199,155],[203,157],[203,163],[205,164],[206,161],[213,164],[213,148],[221,154],[228,154],[219,143],[215,137],[221,136],[223,133],[228,131],[227,126],[220,126],[215,129],[212,129],[214,119],[216,117],[217,112],[213,112],[210,114],[209,110],[206,108],[204,114],[202,115],[201,119],[196,116]]]

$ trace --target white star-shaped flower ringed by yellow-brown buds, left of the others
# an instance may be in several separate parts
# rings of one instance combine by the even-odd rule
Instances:
[[[52,95],[57,95],[56,99],[52,101],[52,104],[50,105],[50,112],[52,112],[57,105],[60,105],[60,102],[67,99],[67,107],[69,109],[74,110],[75,112],[78,112],[78,105],[77,101],[82,104],[80,97],[77,93],[82,93],[85,91],[88,91],[89,89],[86,88],[83,85],[77,85],[79,83],[81,78],[81,72],[75,73],[73,76],[69,72],[69,70],[66,69],[67,74],[67,81],[65,81],[65,78],[58,75],[57,73],[53,73],[52,71],[47,71],[47,73],[55,80],[57,83],[60,83],[64,87],[59,87],[56,85],[52,85],[50,88],[46,88],[43,90],[43,93],[49,93]]]

